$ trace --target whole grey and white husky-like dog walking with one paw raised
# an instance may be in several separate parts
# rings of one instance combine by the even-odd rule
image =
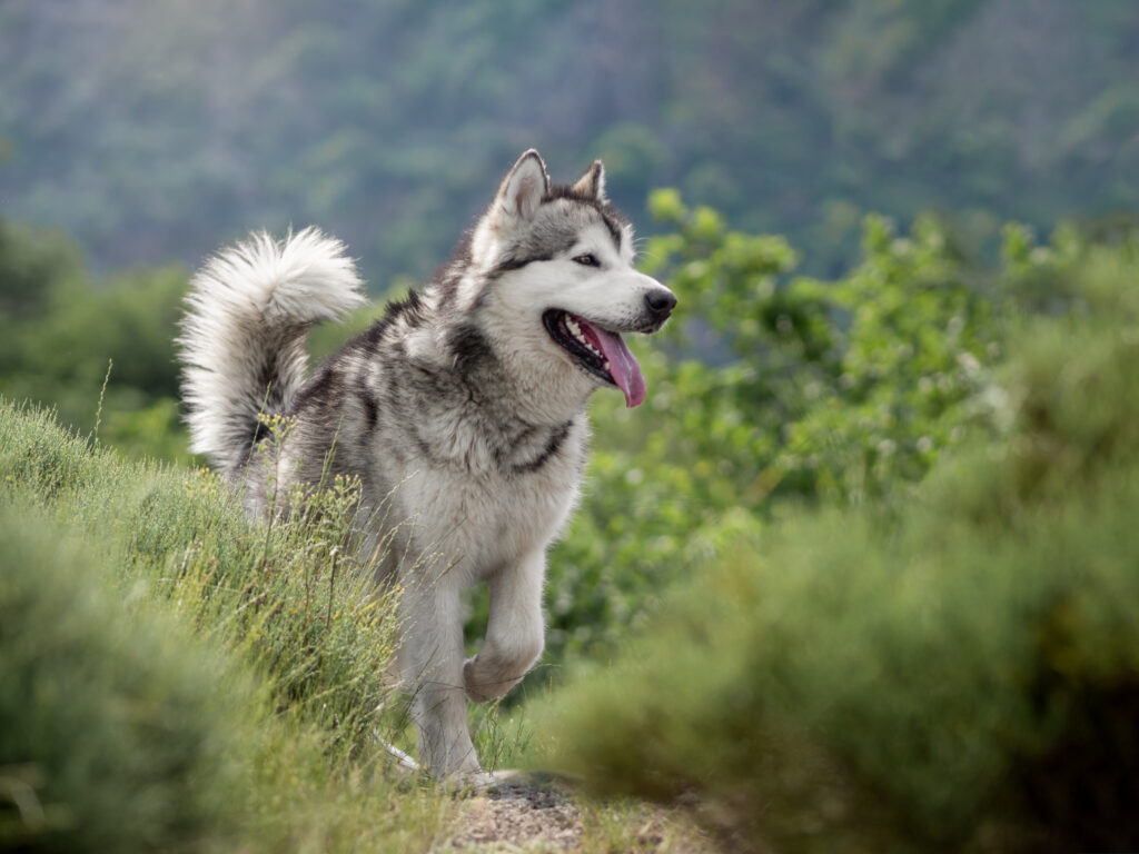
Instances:
[[[191,447],[261,518],[265,414],[290,424],[278,486],[359,478],[361,552],[378,584],[403,589],[396,662],[420,761],[478,774],[464,697],[501,697],[541,656],[546,550],[577,501],[587,401],[603,387],[645,399],[621,335],[656,331],[677,299],[633,269],[600,161],[551,186],[530,150],[434,280],[310,379],[309,327],[363,302],[344,252],[312,228],[259,233],[194,277],[179,338]],[[459,593],[480,582],[486,638],[464,660]]]

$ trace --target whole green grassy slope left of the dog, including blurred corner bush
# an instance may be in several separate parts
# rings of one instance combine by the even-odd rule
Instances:
[[[450,807],[376,765],[394,626],[344,506],[253,527],[0,402],[0,847],[425,849]]]

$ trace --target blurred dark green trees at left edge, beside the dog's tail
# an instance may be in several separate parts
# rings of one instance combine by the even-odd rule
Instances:
[[[0,219],[0,394],[137,457],[188,461],[178,418],[179,268],[96,280],[64,236]],[[106,387],[104,388],[104,383]]]

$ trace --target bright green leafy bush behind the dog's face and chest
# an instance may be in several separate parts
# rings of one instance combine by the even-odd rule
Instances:
[[[645,407],[593,403],[587,498],[550,560],[556,664],[596,662],[670,582],[788,508],[909,501],[983,414],[1011,319],[1068,311],[1065,277],[1089,251],[1072,227],[1039,245],[1011,224],[992,268],[932,217],[900,236],[868,216],[861,260],[823,281],[794,274],[781,237],[672,190],[650,206],[671,230],[644,266],[680,303],[665,346],[633,342]]]

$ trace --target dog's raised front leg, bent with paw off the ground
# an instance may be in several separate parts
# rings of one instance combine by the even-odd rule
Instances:
[[[501,697],[526,675],[542,655],[542,582],[546,552],[505,567],[487,586],[491,594],[486,640],[462,667],[467,696],[475,703]]]

